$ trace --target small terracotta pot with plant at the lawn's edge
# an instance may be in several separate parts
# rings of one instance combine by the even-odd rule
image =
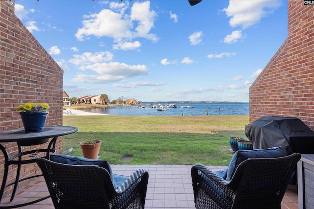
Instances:
[[[86,141],[80,142],[79,145],[82,149],[83,157],[97,159],[101,144],[101,140],[93,139],[92,137],[89,137]]]

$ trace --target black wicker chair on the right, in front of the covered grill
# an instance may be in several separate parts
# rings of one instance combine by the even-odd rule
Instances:
[[[279,158],[249,158],[226,181],[203,164],[191,169],[197,209],[280,209],[299,153]]]

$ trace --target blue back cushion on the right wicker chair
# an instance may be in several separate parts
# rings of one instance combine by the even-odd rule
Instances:
[[[237,166],[248,158],[279,158],[284,156],[287,156],[287,153],[283,146],[268,149],[238,150],[232,157],[223,178],[230,181]]]

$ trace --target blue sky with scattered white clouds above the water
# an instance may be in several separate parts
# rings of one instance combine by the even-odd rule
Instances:
[[[249,101],[287,38],[287,0],[16,0],[72,97]]]

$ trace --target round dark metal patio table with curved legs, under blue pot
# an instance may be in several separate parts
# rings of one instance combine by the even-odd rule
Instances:
[[[4,155],[4,174],[3,174],[3,180],[2,180],[1,189],[0,189],[0,201],[1,201],[5,187],[11,186],[14,184],[13,192],[10,199],[10,201],[12,201],[14,198],[16,189],[18,187],[18,183],[20,181],[42,176],[42,175],[34,175],[34,176],[26,177],[23,179],[19,179],[22,164],[36,163],[36,160],[37,160],[36,157],[39,156],[39,154],[41,153],[46,154],[44,158],[50,159],[50,154],[55,153],[55,142],[58,139],[58,137],[72,134],[77,131],[78,131],[78,128],[73,127],[73,126],[46,126],[44,127],[44,130],[42,132],[30,132],[30,133],[26,133],[24,128],[0,131],[0,150],[2,151]],[[37,145],[37,144],[43,144],[43,143],[48,142],[49,139],[51,140],[46,149],[33,149],[33,150],[25,151],[25,152],[23,152],[22,150],[22,146],[32,146],[32,145]],[[7,150],[5,149],[5,146],[3,146],[1,143],[14,142],[14,141],[18,145],[19,152],[17,154],[9,156]],[[22,160],[22,156],[26,156],[26,155],[29,155],[29,158],[27,160]],[[6,179],[8,176],[9,165],[11,164],[18,165],[15,182],[5,185]],[[22,206],[30,205],[33,203],[37,203],[49,197],[50,195],[28,202],[28,203],[9,206],[9,207],[0,207],[0,208],[22,207]]]

